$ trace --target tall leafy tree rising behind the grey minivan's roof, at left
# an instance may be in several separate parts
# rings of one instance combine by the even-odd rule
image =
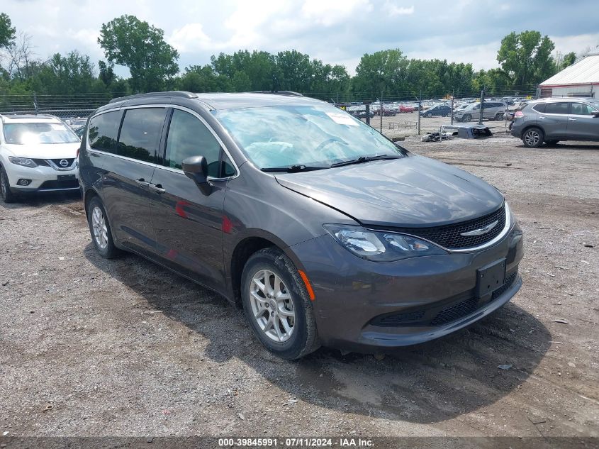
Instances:
[[[164,31],[135,16],[103,23],[98,43],[108,62],[129,68],[135,92],[162,90],[179,72],[179,52],[164,41]]]

